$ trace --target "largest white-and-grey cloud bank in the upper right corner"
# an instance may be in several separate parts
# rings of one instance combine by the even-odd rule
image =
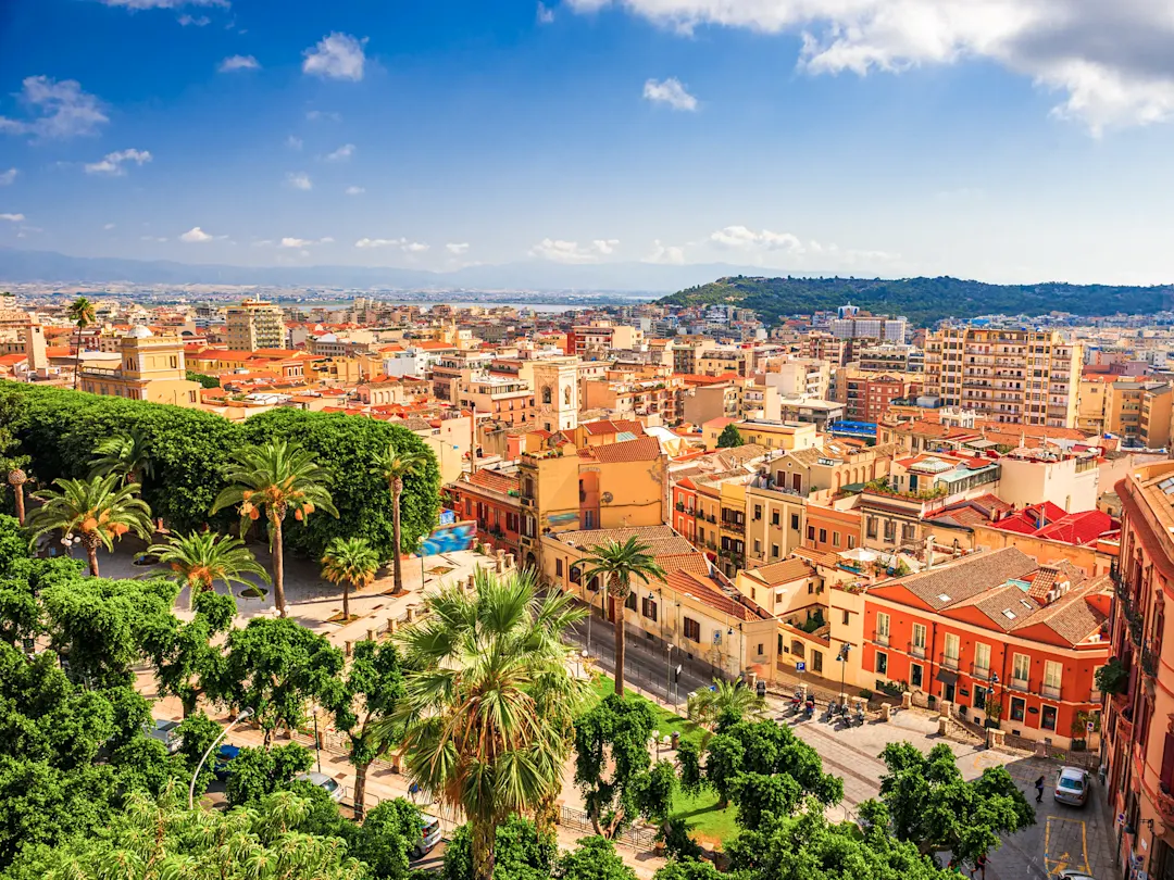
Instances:
[[[1052,114],[1093,134],[1174,117],[1174,15],[1162,0],[566,0],[657,25],[802,39],[811,74],[993,62],[1060,93]]]

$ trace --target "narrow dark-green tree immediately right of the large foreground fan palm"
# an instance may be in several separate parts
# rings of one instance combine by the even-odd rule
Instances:
[[[641,794],[652,783],[648,739],[655,730],[652,703],[614,693],[575,720],[575,784],[596,834],[614,838],[640,815]]]

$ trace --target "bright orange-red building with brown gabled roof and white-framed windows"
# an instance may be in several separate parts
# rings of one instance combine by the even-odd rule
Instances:
[[[1013,547],[882,581],[864,594],[861,681],[902,682],[974,723],[998,715],[1010,736],[1086,743],[1109,655],[1108,588],[1107,576]]]

